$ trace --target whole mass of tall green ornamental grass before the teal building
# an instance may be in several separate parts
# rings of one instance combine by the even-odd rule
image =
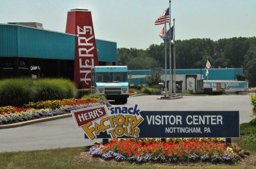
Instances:
[[[28,78],[0,81],[0,106],[23,106],[28,102],[76,97],[73,82],[67,79]]]

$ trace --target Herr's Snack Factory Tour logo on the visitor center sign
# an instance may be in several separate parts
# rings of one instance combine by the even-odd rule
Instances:
[[[101,132],[107,132],[111,138],[138,138],[139,124],[144,120],[138,105],[134,107],[110,107],[106,105],[71,111],[77,128],[82,128],[86,136],[93,140]]]

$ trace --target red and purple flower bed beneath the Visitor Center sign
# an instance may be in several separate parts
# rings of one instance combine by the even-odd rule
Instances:
[[[92,146],[92,156],[103,159],[147,162],[235,162],[249,154],[234,146],[227,146],[223,139],[114,139],[104,146]]]

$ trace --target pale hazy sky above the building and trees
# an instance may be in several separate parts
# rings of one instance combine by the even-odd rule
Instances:
[[[0,23],[39,22],[65,32],[67,11],[88,9],[97,39],[146,49],[163,42],[158,36],[163,25],[154,22],[167,7],[166,0],[0,0]],[[255,9],[255,0],[172,0],[175,39],[256,36]]]

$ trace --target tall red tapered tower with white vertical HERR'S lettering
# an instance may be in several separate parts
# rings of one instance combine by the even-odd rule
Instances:
[[[99,65],[91,11],[68,11],[66,33],[76,35],[74,82],[90,88],[91,68]]]

